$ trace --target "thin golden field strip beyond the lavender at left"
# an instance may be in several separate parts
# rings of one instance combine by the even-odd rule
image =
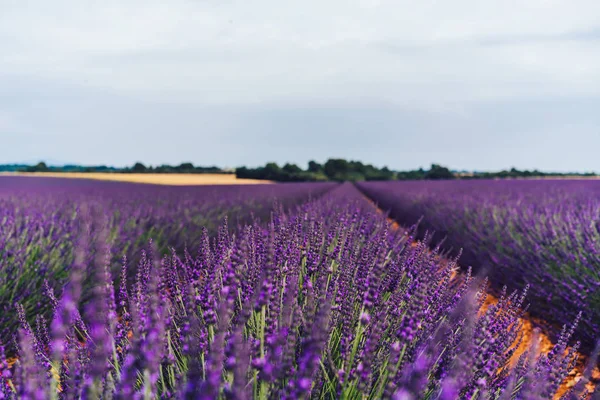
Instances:
[[[47,178],[96,179],[102,181],[150,183],[155,185],[255,185],[271,181],[238,179],[235,174],[120,174],[110,172],[7,172],[0,175]]]

